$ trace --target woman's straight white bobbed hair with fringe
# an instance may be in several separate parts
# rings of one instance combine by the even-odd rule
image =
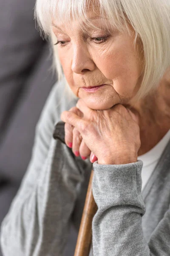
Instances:
[[[37,0],[35,15],[44,35],[51,36],[52,22],[80,20],[86,21],[86,26],[94,26],[86,13],[96,7],[112,27],[128,32],[130,25],[135,33],[134,43],[142,43],[144,68],[136,96],[142,98],[157,87],[170,67],[170,0]],[[62,67],[57,47],[55,57],[60,79]]]

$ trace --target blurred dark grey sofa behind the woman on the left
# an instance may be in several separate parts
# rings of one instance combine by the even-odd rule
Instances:
[[[35,125],[57,81],[50,47],[35,28],[34,5],[0,0],[0,223],[26,172]]]

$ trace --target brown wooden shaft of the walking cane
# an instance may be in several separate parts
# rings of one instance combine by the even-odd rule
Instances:
[[[92,220],[97,211],[92,192],[93,175],[94,171],[92,170],[74,256],[89,256],[91,249]]]

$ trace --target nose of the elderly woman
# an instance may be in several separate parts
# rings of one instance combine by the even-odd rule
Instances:
[[[77,74],[93,71],[95,63],[92,60],[87,47],[82,44],[75,44],[73,49],[71,70]]]

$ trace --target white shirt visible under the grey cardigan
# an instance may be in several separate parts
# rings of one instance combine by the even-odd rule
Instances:
[[[164,148],[166,147],[169,140],[170,140],[170,130],[159,141],[159,143],[156,144],[155,147],[153,147],[146,154],[143,154],[138,157],[138,160],[142,160],[142,162],[143,162],[142,190],[144,189],[144,186],[146,185],[147,181],[149,180],[151,174],[153,173],[153,170],[155,169],[156,164],[158,163],[158,161],[161,157],[161,154],[163,153]]]

